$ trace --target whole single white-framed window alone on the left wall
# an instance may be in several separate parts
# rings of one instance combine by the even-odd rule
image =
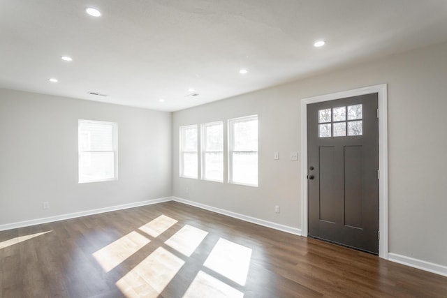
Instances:
[[[79,183],[117,179],[117,124],[78,121]]]

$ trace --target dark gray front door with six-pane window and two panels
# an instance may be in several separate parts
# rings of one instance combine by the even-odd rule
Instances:
[[[309,236],[379,253],[377,94],[307,105]]]

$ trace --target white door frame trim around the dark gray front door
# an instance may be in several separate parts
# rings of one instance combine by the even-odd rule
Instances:
[[[379,257],[388,260],[388,111],[387,84],[313,96],[301,100],[301,233],[307,237],[307,105],[365,94],[378,94],[379,100]]]

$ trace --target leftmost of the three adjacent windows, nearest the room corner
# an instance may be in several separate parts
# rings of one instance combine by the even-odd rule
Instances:
[[[198,177],[197,125],[180,127],[180,177]]]

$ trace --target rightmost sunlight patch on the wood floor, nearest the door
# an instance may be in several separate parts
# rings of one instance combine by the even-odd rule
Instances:
[[[221,238],[203,265],[240,285],[245,285],[250,260],[251,248]]]

